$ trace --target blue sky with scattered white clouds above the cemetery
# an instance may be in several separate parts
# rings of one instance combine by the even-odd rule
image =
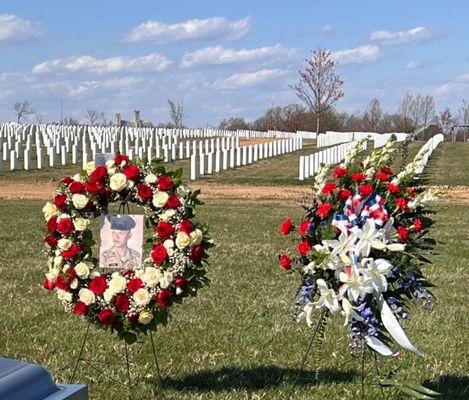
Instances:
[[[406,92],[454,111],[469,100],[469,2],[459,1],[10,1],[0,5],[0,119],[29,99],[46,120],[109,118],[140,109],[186,124],[251,120],[298,102],[288,86],[318,46],[333,51],[345,97],[394,111]]]

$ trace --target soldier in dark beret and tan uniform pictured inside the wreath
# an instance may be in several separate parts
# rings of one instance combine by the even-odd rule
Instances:
[[[107,215],[111,224],[112,247],[102,254],[102,268],[135,269],[140,266],[141,254],[127,246],[135,221],[129,215]]]

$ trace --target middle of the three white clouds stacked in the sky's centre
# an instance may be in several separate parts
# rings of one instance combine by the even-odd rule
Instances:
[[[265,46],[256,49],[227,49],[223,46],[205,47],[184,54],[181,68],[193,67],[196,65],[221,65],[249,63],[260,61],[273,61],[279,58],[285,59],[291,56],[293,49],[287,49],[280,44],[275,46]]]

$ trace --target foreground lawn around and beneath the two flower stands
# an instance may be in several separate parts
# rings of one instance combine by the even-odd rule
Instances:
[[[64,313],[51,293],[41,288],[46,258],[41,255],[42,202],[0,203],[0,351],[2,356],[41,363],[54,378],[66,382],[77,357],[85,324]],[[437,285],[431,312],[412,310],[408,334],[425,354],[404,353],[403,380],[424,383],[445,393],[444,399],[469,397],[469,207],[437,206],[433,237],[440,243],[434,264],[427,269]],[[297,280],[277,266],[276,255],[288,244],[278,234],[283,218],[299,218],[293,203],[276,201],[207,201],[200,218],[213,227],[218,247],[209,266],[212,283],[176,306],[170,323],[157,333],[164,379],[164,397],[152,395],[155,377],[134,392],[135,399],[284,399],[290,390],[311,331],[291,320],[292,292]],[[122,346],[107,332],[91,330],[86,356],[109,364],[117,377],[125,372]],[[131,347],[135,363],[151,359],[150,348]],[[307,364],[307,373],[295,388],[294,399],[359,398],[359,361],[350,361],[342,318],[326,331],[320,363]],[[132,365],[135,368],[135,364]],[[322,381],[314,384],[312,372]],[[371,369],[370,369],[371,371]],[[98,378],[83,366],[79,382],[87,383],[92,399],[126,399],[118,385]],[[367,399],[379,398],[372,385]],[[388,399],[400,399],[388,392]]]

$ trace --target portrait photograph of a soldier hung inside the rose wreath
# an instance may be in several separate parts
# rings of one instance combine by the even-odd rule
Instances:
[[[140,267],[143,250],[143,215],[106,214],[99,231],[99,267],[128,270]]]

